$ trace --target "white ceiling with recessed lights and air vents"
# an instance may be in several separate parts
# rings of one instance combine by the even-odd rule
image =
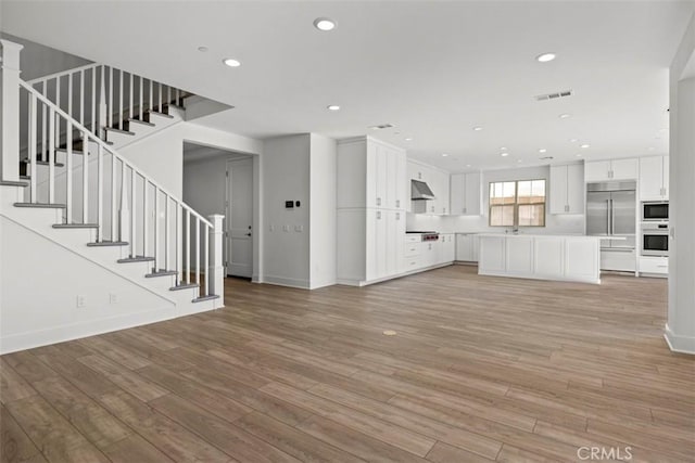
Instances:
[[[695,11],[660,0],[38,3],[3,0],[1,28],[236,106],[201,124],[254,138],[370,133],[452,171],[668,153],[668,67]],[[319,16],[338,27],[318,31]],[[548,51],[557,60],[534,60]],[[574,95],[533,98],[565,89]],[[367,128],[383,123],[396,127]]]

